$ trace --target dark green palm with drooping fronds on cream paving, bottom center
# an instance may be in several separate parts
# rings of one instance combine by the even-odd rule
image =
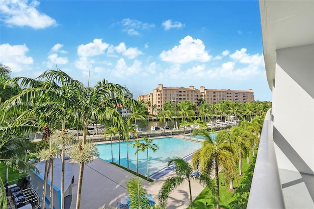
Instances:
[[[182,158],[174,157],[168,161],[168,166],[174,164],[175,176],[168,178],[161,186],[158,193],[158,200],[162,206],[165,206],[169,194],[178,186],[182,185],[186,180],[189,186],[190,194],[190,206],[193,209],[192,192],[191,192],[191,180],[198,180],[201,184],[209,186],[210,177],[205,173],[193,173],[192,166],[185,162]]]

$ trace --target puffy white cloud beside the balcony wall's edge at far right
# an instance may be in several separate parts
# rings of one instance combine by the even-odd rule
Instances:
[[[230,54],[230,58],[244,64],[253,64],[256,66],[264,66],[264,57],[261,54],[250,55],[246,53],[246,48],[236,50],[235,53]]]

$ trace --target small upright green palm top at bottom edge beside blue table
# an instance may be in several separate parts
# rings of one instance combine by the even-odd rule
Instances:
[[[139,178],[131,178],[127,181],[127,190],[130,193],[130,208],[147,209],[147,207],[149,207],[149,199],[146,196],[146,190]]]

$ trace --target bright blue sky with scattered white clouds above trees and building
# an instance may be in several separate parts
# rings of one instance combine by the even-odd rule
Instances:
[[[259,3],[1,0],[0,62],[11,77],[56,66],[90,86],[104,78],[133,97],[164,87],[253,89],[271,101]]]

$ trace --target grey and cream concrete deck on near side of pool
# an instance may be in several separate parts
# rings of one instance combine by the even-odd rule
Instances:
[[[175,136],[181,138],[179,136]],[[102,142],[104,143],[104,142]],[[72,164],[74,173],[74,183],[72,185],[72,203],[70,209],[75,209],[78,188],[79,164],[68,160]],[[174,171],[170,171],[155,182],[148,182],[140,179],[147,190],[148,194],[152,194],[155,202],[158,201],[158,191],[163,182],[174,175]],[[121,198],[128,197],[129,193],[126,189],[126,182],[136,175],[123,170],[104,160],[96,158],[92,163],[84,166],[83,185],[81,192],[81,209],[113,209],[117,208],[117,203]],[[193,182],[191,186],[192,199],[194,200],[203,190],[198,182]],[[167,209],[186,209],[189,206],[189,188],[185,181],[183,185],[176,188],[167,201]]]

